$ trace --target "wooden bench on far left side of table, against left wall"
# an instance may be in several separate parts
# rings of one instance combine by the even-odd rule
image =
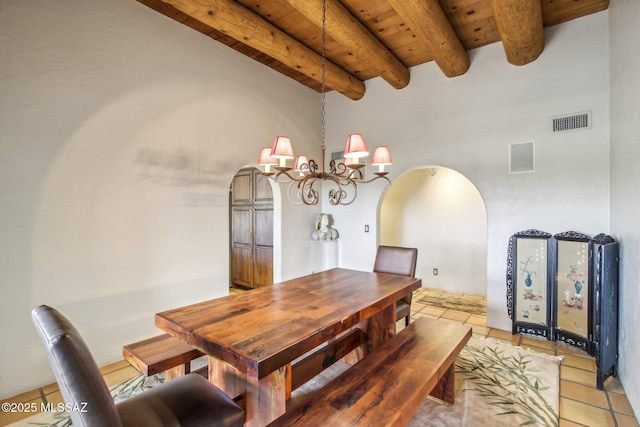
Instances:
[[[165,380],[170,380],[188,374],[191,361],[204,353],[178,338],[163,334],[125,345],[122,355],[144,375],[165,371]]]

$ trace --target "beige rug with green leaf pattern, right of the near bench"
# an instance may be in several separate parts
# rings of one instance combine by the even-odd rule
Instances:
[[[455,403],[429,398],[407,425],[557,426],[561,360],[472,337],[456,360]]]

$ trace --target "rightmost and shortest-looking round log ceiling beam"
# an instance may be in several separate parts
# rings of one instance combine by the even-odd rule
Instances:
[[[507,61],[513,65],[533,62],[544,49],[540,0],[491,0]]]

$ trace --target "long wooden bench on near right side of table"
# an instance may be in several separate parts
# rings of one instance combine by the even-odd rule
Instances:
[[[430,394],[453,403],[469,338],[460,323],[417,319],[270,425],[404,426]]]

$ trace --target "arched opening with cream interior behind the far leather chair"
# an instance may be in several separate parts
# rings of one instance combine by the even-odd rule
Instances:
[[[452,169],[413,169],[393,181],[380,204],[380,244],[417,247],[425,288],[486,296],[486,208]]]

